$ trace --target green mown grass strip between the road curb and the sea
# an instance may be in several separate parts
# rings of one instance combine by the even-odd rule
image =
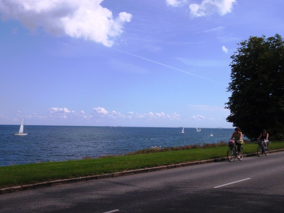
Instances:
[[[144,149],[142,152],[145,152],[145,154],[140,154],[140,150],[138,153],[127,153],[121,156],[2,166],[0,167],[0,188],[215,159],[227,155],[228,147],[226,143],[200,146],[195,148],[187,146],[188,149],[185,147],[170,147],[167,148],[168,150],[156,150],[153,153],[149,153],[151,151]],[[257,146],[256,143],[245,144],[244,154],[255,153]],[[284,141],[273,142],[269,147],[270,150],[283,149]]]

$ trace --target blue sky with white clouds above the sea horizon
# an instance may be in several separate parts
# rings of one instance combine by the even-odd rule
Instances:
[[[0,0],[0,124],[230,128],[231,58],[283,0]]]

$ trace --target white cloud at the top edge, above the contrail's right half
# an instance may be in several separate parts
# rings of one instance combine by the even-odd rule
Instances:
[[[190,12],[194,17],[207,16],[213,13],[225,15],[232,10],[232,4],[236,0],[203,0],[200,4],[191,4]]]

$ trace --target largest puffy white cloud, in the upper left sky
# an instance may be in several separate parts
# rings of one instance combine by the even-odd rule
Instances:
[[[112,46],[123,32],[130,13],[112,12],[100,5],[103,0],[0,0],[2,19],[17,19],[34,31],[43,27],[54,35],[69,35]]]

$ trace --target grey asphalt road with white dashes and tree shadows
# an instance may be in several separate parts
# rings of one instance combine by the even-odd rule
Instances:
[[[113,210],[283,213],[284,152],[0,195],[0,213]]]

